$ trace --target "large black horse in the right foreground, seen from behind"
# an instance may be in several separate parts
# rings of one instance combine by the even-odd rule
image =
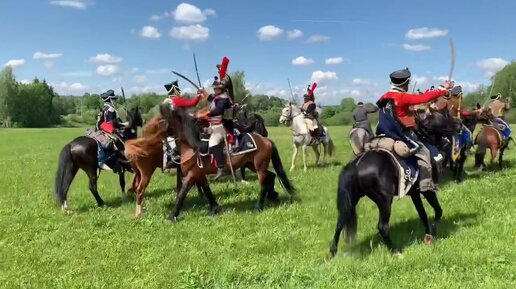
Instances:
[[[461,127],[458,120],[449,116],[448,111],[434,111],[424,120],[419,120],[419,128],[425,128],[425,134],[430,136],[451,136]],[[420,130],[420,129],[418,129]],[[440,138],[440,137],[439,137]],[[341,171],[338,183],[337,209],[339,216],[330,247],[330,256],[337,253],[337,245],[342,229],[346,229],[346,241],[354,241],[357,229],[356,205],[363,196],[368,196],[378,206],[380,215],[378,230],[385,244],[392,252],[398,252],[389,236],[389,218],[391,204],[398,193],[398,168],[391,157],[383,151],[369,151],[361,158],[347,164]],[[435,211],[435,221],[432,226],[421,201],[418,184],[414,184],[408,193],[423,225],[425,226],[425,241],[431,243],[436,234],[437,223],[442,216],[442,209],[435,192],[424,192],[423,195]]]

